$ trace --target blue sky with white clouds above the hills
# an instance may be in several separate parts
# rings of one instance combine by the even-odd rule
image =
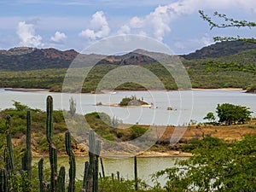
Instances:
[[[214,44],[214,36],[255,38],[256,28],[210,30],[200,9],[256,21],[255,0],[0,0],[0,49],[80,52],[102,38],[138,34],[182,55]]]

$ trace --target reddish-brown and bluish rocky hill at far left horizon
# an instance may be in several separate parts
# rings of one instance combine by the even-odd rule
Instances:
[[[73,49],[61,51],[20,47],[0,50],[0,68],[3,71],[66,68],[78,54]]]

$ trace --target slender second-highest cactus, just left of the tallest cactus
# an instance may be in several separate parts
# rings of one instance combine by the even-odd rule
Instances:
[[[31,151],[31,113],[26,112],[26,152],[22,158],[22,170],[26,171],[28,179],[32,177],[32,151]]]

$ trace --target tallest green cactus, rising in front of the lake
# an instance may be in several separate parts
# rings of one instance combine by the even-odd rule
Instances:
[[[53,137],[53,98],[47,97],[46,104],[46,137],[49,143],[49,163],[50,163],[50,191],[56,191],[57,183],[57,150],[55,144],[52,141]]]

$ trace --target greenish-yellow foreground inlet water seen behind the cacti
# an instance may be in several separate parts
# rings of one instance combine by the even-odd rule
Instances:
[[[146,157],[137,158],[137,172],[138,177],[142,178],[143,181],[149,185],[153,185],[151,177],[155,172],[164,170],[168,167],[174,166],[176,160],[183,160],[184,157]],[[76,175],[78,179],[83,179],[84,176],[84,162],[88,160],[87,157],[76,157]],[[114,173],[117,177],[119,172],[120,177],[134,179],[134,160],[133,158],[119,158],[119,159],[108,159],[104,158],[103,165],[106,176],[111,176]],[[38,163],[39,158],[33,158],[33,163]],[[66,172],[69,169],[68,158],[58,158],[58,165],[65,166]],[[49,167],[49,158],[44,159],[44,166]],[[101,165],[99,165],[99,172],[102,172]],[[164,183],[165,179],[160,178],[160,183]]]

